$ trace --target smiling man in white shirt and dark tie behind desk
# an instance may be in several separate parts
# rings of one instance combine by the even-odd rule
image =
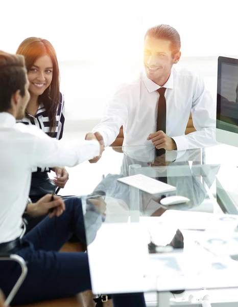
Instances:
[[[179,33],[169,25],[147,31],[145,71],[118,88],[101,123],[93,128],[103,136],[105,146],[115,140],[122,125],[125,146],[153,143],[157,149],[185,150],[216,144],[215,102],[198,74],[174,67],[181,56],[180,46]],[[165,131],[157,130],[160,87],[165,90]],[[191,112],[196,131],[184,135]]]

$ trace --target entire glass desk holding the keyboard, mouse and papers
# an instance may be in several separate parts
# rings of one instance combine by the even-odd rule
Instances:
[[[217,156],[213,159],[214,148],[187,150],[178,155],[176,152],[166,152],[164,158],[155,158],[153,146],[109,147],[98,163],[74,169],[81,182],[73,193],[84,195],[82,205],[94,293],[156,291],[163,295],[171,290],[238,287],[236,261],[220,259],[217,255],[214,258],[210,251],[197,244],[199,240],[196,236],[204,231],[197,228],[211,226],[209,222],[205,226],[198,223],[204,222],[203,212],[220,216],[235,213],[236,208],[234,198],[230,198],[231,205],[227,207],[229,195],[224,183],[218,179],[219,171],[225,169],[222,178],[227,181],[227,161],[223,162]],[[232,163],[229,168],[234,170],[236,161]],[[166,182],[176,187],[176,192],[151,195],[117,180],[138,173]],[[171,194],[186,196],[189,202],[162,206],[161,198]],[[193,218],[188,216],[187,219],[194,221],[194,224],[190,223],[190,228],[198,225],[197,228],[194,231],[189,229],[184,216],[176,218],[176,215],[168,215],[168,211],[173,213],[175,210],[193,212]],[[166,218],[161,222],[163,216]],[[157,246],[156,253],[150,253],[153,244]],[[172,248],[173,252],[170,251]],[[167,262],[170,258],[169,263],[175,270],[179,270],[176,269],[178,263],[180,267],[183,264],[183,268],[188,273],[194,272],[194,275],[188,274],[184,279],[181,275],[173,275],[170,266],[166,270],[156,269],[159,266],[162,268],[164,257]],[[210,259],[209,266],[207,259]],[[227,270],[218,271],[222,266]],[[199,279],[200,270],[205,275]],[[211,275],[218,278],[209,279]],[[163,307],[169,305],[168,301],[161,300],[160,297],[159,303]]]

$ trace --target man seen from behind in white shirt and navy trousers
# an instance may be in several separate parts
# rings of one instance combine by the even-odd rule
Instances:
[[[59,196],[51,202],[49,194],[27,208],[26,203],[32,166],[75,166],[101,155],[103,150],[93,134],[87,139],[94,140],[65,142],[47,136],[36,126],[16,124],[16,119],[25,114],[28,86],[23,56],[0,51],[0,254],[18,254],[28,266],[27,277],[13,304],[68,297],[91,289],[87,254],[58,252],[73,233],[85,239],[80,199],[73,198],[66,209]],[[93,226],[101,226],[102,216],[90,202],[88,206],[88,221],[92,218]],[[45,217],[19,239],[25,209],[39,216],[51,208],[51,218]],[[20,269],[12,261],[1,261],[0,272],[0,289],[7,296]],[[116,295],[113,299],[115,306],[145,307],[142,293]]]

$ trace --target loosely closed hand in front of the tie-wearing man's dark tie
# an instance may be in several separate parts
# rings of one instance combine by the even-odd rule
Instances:
[[[175,141],[168,137],[163,131],[157,131],[148,136],[147,140],[151,140],[157,149],[164,148],[165,150],[177,149]]]

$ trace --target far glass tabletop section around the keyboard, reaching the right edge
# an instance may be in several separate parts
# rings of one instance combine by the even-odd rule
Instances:
[[[129,186],[117,179],[134,171],[162,181],[166,178],[168,184],[176,186],[177,195],[190,199],[186,209],[238,214],[238,148],[221,144],[170,151],[165,158],[155,158],[154,153],[153,146],[107,147],[97,163],[68,168],[70,179],[60,194],[86,195],[103,190],[108,197],[116,196],[125,203]],[[135,164],[139,169],[133,170]],[[149,195],[142,193],[141,198],[140,213],[149,214]]]

